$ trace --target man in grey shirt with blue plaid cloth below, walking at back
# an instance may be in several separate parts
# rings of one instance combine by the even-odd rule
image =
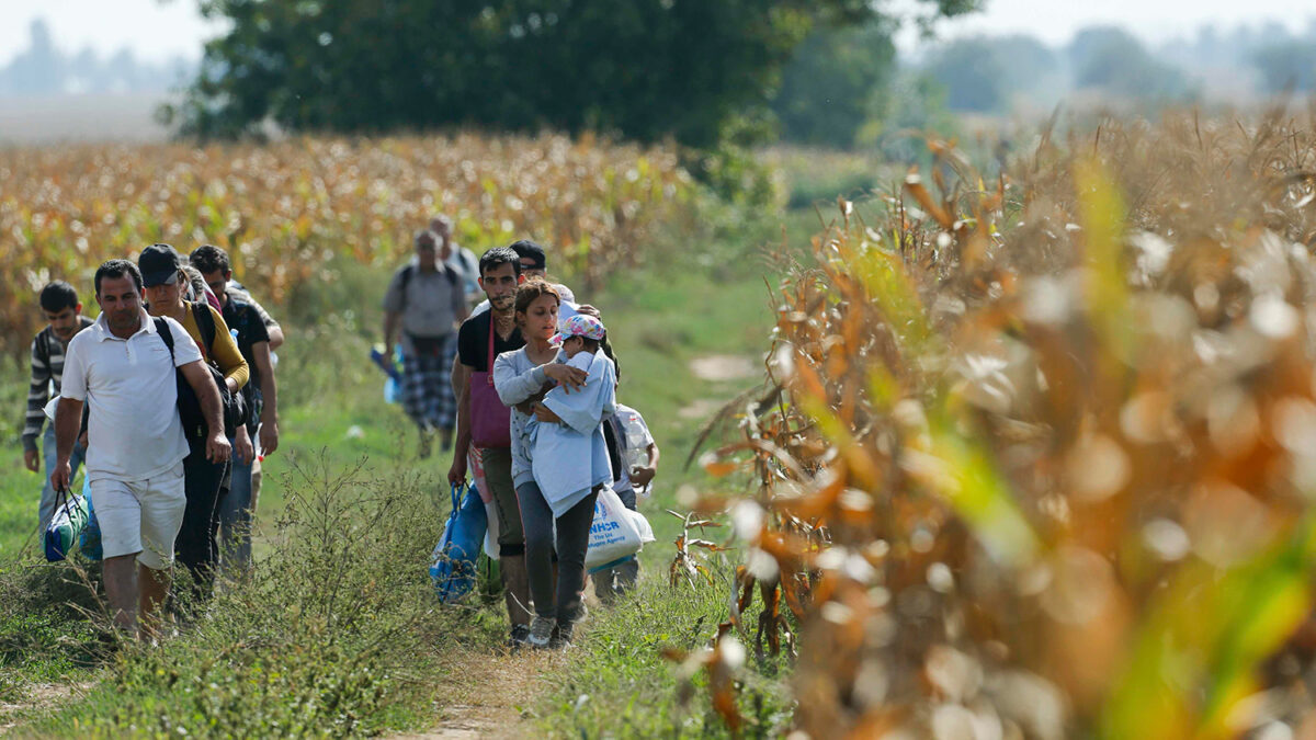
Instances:
[[[384,294],[384,346],[401,332],[401,402],[420,428],[421,458],[429,457],[437,431],[442,448],[453,445],[457,400],[449,382],[455,328],[466,320],[462,275],[441,253],[446,241],[428,229],[416,232],[416,255],[393,274]]]

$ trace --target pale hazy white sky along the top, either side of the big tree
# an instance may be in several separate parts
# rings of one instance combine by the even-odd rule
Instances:
[[[913,1],[892,0],[887,7]],[[89,45],[104,54],[128,46],[139,59],[151,61],[176,54],[196,58],[201,41],[217,33],[201,20],[195,0],[0,0],[0,65],[28,46],[28,26],[42,16],[55,43],[66,50]],[[944,36],[1028,32],[1062,43],[1080,26],[1113,22],[1163,41],[1191,34],[1204,22],[1233,26],[1278,20],[1299,30],[1312,16],[1312,0],[987,0],[983,13],[940,28]],[[913,43],[911,34],[901,38],[901,46]]]

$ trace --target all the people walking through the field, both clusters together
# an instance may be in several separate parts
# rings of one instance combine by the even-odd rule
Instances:
[[[596,496],[634,510],[658,446],[616,400],[619,367],[600,312],[547,278],[544,248],[517,241],[479,259],[434,217],[383,299],[386,346],[400,346],[400,400],[420,435],[453,450],[495,512],[509,644],[569,645],[584,615]],[[204,603],[217,574],[250,565],[259,461],[279,446],[274,350],[283,329],[240,284],[229,255],[157,244],[95,275],[83,316],[66,282],[39,296],[24,461],[45,458],[45,529],[86,466],[116,623],[150,636],[176,558]],[[472,305],[474,304],[474,305]],[[58,398],[54,423],[46,407]],[[604,602],[633,586],[634,560],[594,574]]]

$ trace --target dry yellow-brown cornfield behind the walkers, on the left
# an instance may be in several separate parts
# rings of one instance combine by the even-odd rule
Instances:
[[[688,192],[675,153],[591,137],[0,149],[0,328],[25,346],[42,284],[67,279],[91,304],[100,262],[158,241],[226,249],[236,277],[279,303],[332,279],[337,257],[399,261],[436,213],[476,253],[533,238],[554,273],[594,286]]]

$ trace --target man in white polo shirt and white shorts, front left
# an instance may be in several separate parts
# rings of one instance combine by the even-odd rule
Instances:
[[[183,327],[163,319],[174,337],[172,359],[155,321],[142,308],[142,275],[126,259],[96,270],[100,317],[68,342],[55,412],[55,470],[50,483],[68,490],[74,438],[83,402],[91,404],[87,477],[105,548],[105,595],[114,623],[150,636],[168,593],[174,539],[183,523],[183,458],[187,440],[178,415],[182,371],[201,402],[209,428],[207,457],[228,460],[220,391],[201,352]],[[137,561],[137,568],[133,561]]]

